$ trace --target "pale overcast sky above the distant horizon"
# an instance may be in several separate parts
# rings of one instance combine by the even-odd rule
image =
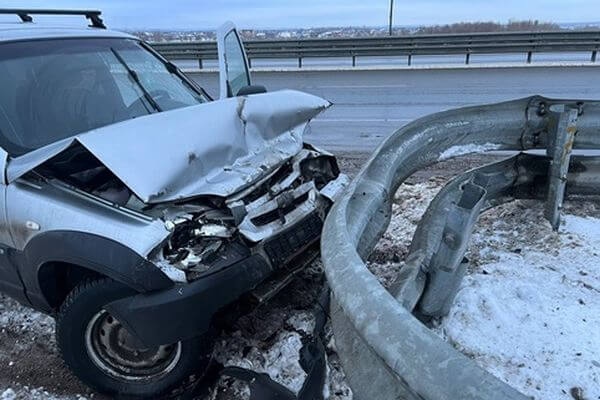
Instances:
[[[395,25],[539,19],[596,22],[600,0],[395,0]],[[0,7],[93,8],[117,29],[383,26],[389,0],[1,0]],[[5,17],[3,18],[3,20]]]

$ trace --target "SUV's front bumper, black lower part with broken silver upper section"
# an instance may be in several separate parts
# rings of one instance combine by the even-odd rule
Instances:
[[[247,221],[269,215],[273,201],[255,199],[240,231],[248,228],[247,236],[259,243],[251,251],[245,249],[246,255],[190,283],[117,300],[106,310],[146,346],[175,343],[205,333],[219,310],[254,289],[264,295],[271,281],[279,279],[280,284],[275,286],[281,288],[281,282],[289,281],[286,277],[318,254],[311,252],[311,246],[318,243],[327,211],[347,181],[340,174],[321,190],[312,183],[298,186],[291,191],[292,198],[308,193],[306,199],[280,218],[260,225],[256,220],[252,224]]]

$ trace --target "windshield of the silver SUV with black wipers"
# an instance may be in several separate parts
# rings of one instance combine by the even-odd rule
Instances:
[[[137,40],[0,44],[0,145],[13,156],[207,100]]]

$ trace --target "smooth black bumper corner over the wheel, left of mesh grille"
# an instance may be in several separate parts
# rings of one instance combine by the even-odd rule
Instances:
[[[212,316],[272,273],[253,255],[198,281],[138,294],[106,306],[146,346],[175,343],[206,332]]]

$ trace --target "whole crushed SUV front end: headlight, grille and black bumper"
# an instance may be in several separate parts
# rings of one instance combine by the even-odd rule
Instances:
[[[347,181],[331,154],[305,145],[230,197],[157,207],[171,234],[150,260],[176,284],[108,309],[154,345],[203,333],[242,295],[267,300],[319,254],[323,221]]]

